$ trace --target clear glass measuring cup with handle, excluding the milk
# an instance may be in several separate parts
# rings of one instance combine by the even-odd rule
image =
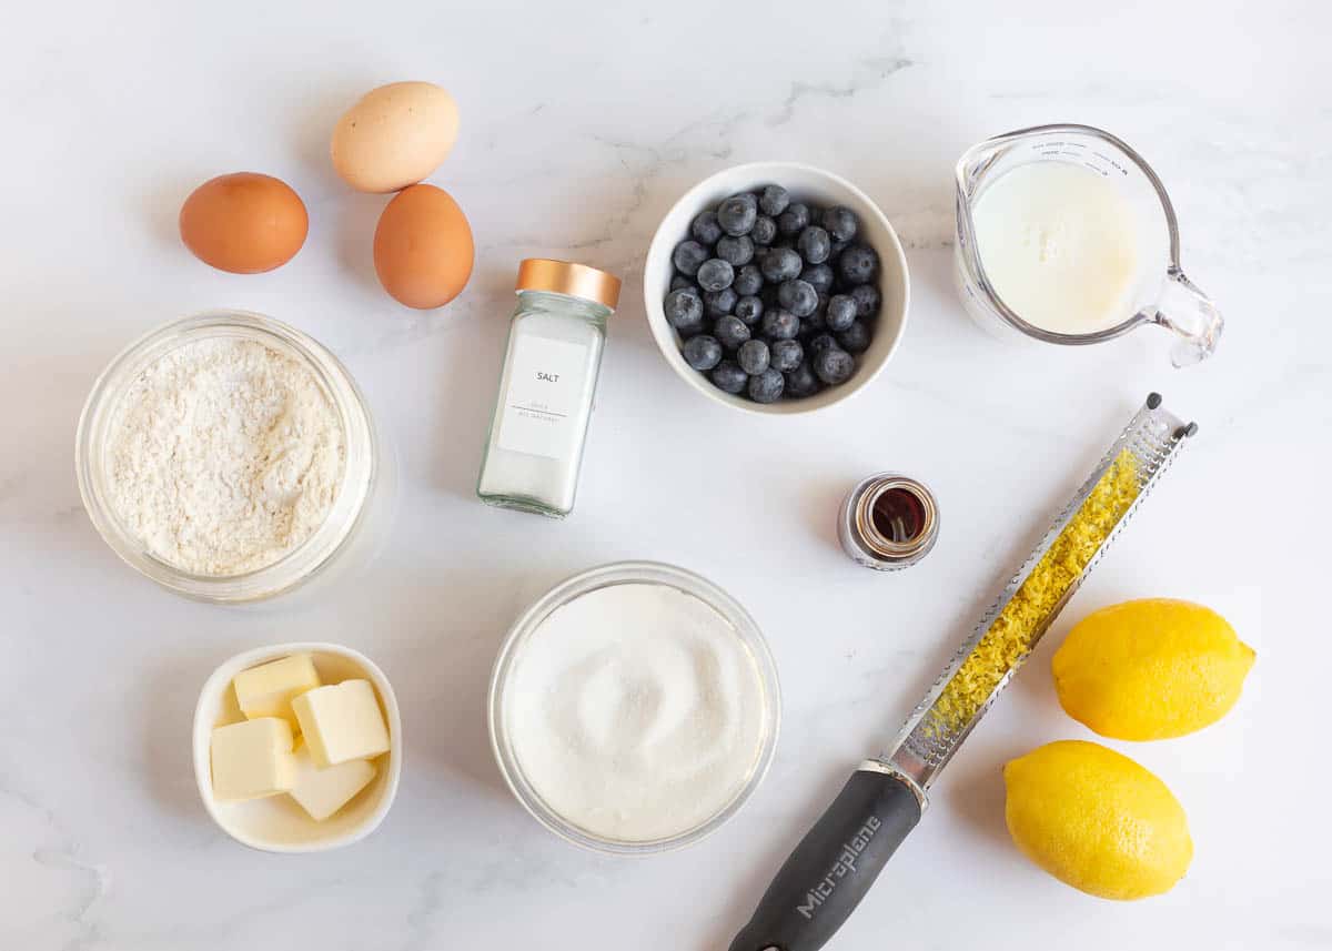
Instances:
[[[1091,333],[1056,333],[1023,320],[986,276],[976,248],[972,210],[999,176],[1030,162],[1071,162],[1112,182],[1132,209],[1140,253],[1123,320]],[[1036,125],[987,139],[958,160],[958,240],[954,277],[967,313],[982,328],[1014,340],[1100,344],[1146,324],[1175,333],[1171,361],[1187,366],[1211,356],[1224,321],[1212,301],[1179,266],[1179,224],[1166,188],[1151,166],[1122,140],[1090,125]]]

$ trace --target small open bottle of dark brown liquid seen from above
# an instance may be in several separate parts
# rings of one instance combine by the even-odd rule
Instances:
[[[855,485],[838,514],[842,549],[858,565],[896,571],[915,565],[939,537],[939,506],[924,483],[876,473]]]

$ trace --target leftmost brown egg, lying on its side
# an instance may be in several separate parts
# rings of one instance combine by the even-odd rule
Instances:
[[[296,257],[310,220],[301,196],[257,172],[221,174],[196,188],[180,209],[180,240],[218,270],[257,274]]]

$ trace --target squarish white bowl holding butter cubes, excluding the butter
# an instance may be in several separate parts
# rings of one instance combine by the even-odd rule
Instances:
[[[236,674],[289,654],[312,654],[324,683],[364,678],[374,685],[380,709],[389,725],[389,753],[377,762],[374,779],[356,798],[324,822],[314,822],[288,795],[220,802],[213,796],[209,747],[213,727],[245,719],[236,706],[232,681]],[[222,831],[241,844],[268,852],[321,852],[364,839],[388,815],[402,774],[402,718],[393,686],[373,661],[336,643],[282,643],[256,647],[221,665],[204,683],[194,709],[194,781],[204,808]]]

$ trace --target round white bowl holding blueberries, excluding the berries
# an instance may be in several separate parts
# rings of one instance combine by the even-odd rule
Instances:
[[[674,273],[671,253],[675,245],[689,237],[689,224],[699,212],[715,208],[723,198],[737,192],[751,192],[763,185],[782,185],[797,201],[810,201],[819,205],[846,205],[860,218],[860,234],[879,253],[879,292],[883,305],[874,328],[870,349],[856,357],[855,374],[840,386],[829,386],[819,393],[802,400],[778,400],[773,404],[758,404],[743,397],[731,396],[713,386],[709,378],[685,362],[681,354],[681,340],[675,329],[666,322],[662,298],[670,290]],[[653,242],[647,249],[647,264],[643,269],[643,305],[647,309],[647,324],[653,329],[657,346],[675,376],[714,402],[749,410],[750,413],[770,413],[789,416],[810,413],[842,402],[864,389],[892,357],[907,325],[907,305],[910,281],[907,278],[907,258],[902,253],[902,242],[879,206],[859,188],[840,176],[825,172],[813,165],[790,161],[765,161],[718,172],[689,189],[666,213]]]

